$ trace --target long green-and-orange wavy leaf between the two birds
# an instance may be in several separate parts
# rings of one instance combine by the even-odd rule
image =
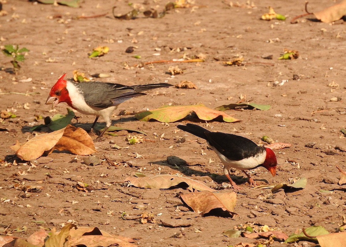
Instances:
[[[199,119],[205,121],[213,120],[219,116],[222,116],[222,119],[228,123],[241,121],[225,114],[224,112],[208,108],[203,104],[186,106],[164,105],[155,110],[139,112],[135,117],[140,121],[149,121],[154,119],[159,122],[171,123],[183,119],[191,112],[194,112]]]

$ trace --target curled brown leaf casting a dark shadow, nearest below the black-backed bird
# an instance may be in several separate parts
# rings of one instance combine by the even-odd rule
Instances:
[[[233,213],[236,205],[237,194],[232,192],[211,193],[210,191],[194,192],[180,196],[194,212],[206,214],[212,209],[220,208],[224,211]]]

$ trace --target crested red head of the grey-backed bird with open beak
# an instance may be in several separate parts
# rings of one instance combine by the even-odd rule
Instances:
[[[47,98],[46,104],[48,104],[48,102],[54,99],[52,108],[54,108],[60,102],[66,102],[69,106],[72,107],[69,91],[67,91],[66,89],[66,80],[64,80],[65,75],[66,73],[63,74],[57,80],[57,82],[54,84],[51,91],[49,92],[49,96]]]

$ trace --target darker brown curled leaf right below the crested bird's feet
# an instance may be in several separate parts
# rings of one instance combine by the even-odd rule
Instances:
[[[97,152],[90,135],[85,130],[70,124],[66,126],[63,136],[54,148],[70,151],[75,155],[90,155]]]

